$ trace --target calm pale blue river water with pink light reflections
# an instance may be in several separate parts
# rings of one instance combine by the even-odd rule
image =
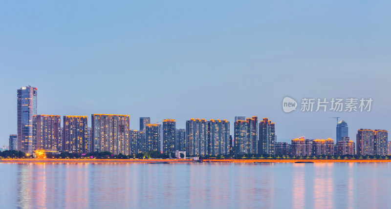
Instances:
[[[391,208],[391,163],[0,163],[0,208]]]

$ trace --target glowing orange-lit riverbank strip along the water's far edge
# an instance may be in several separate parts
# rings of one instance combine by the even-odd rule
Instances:
[[[315,160],[315,159],[0,159],[0,163],[390,163],[391,160]]]

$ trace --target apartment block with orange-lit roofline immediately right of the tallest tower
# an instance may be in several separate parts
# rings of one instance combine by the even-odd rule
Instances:
[[[34,149],[58,150],[61,131],[61,116],[34,115],[33,116]]]

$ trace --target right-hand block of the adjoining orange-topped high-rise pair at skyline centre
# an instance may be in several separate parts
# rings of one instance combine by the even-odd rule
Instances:
[[[207,150],[209,155],[227,155],[229,153],[229,122],[210,120],[207,124]]]

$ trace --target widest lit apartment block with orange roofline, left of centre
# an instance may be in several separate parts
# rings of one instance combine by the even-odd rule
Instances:
[[[92,114],[91,122],[91,147],[95,151],[129,154],[129,115]]]

